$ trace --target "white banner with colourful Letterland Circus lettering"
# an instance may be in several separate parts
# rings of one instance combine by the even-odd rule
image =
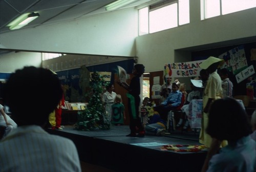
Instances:
[[[200,64],[204,60],[175,62],[164,66],[164,75],[169,77],[196,77],[201,71]]]

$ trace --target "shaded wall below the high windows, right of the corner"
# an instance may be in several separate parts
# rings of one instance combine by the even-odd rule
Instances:
[[[256,41],[256,8],[201,21],[200,1],[190,1],[190,24],[138,36],[136,56],[146,72],[161,71],[166,63],[191,61],[191,51],[248,40]]]

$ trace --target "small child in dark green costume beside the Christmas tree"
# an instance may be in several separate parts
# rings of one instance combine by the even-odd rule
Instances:
[[[114,125],[123,125],[123,120],[126,119],[124,113],[124,105],[120,94],[116,95],[114,104],[112,105],[112,123]]]

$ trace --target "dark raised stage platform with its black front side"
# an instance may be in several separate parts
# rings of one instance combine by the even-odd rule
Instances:
[[[174,131],[168,135],[126,137],[129,126],[112,126],[111,130],[77,131],[72,126],[47,130],[73,140],[80,160],[113,171],[200,171],[206,151],[173,152],[160,150],[164,144],[200,145],[198,133]]]

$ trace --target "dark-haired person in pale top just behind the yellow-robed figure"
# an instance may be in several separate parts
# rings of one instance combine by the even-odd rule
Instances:
[[[228,69],[223,68],[219,71],[222,83],[222,95],[223,97],[233,97],[233,83],[228,78]]]

